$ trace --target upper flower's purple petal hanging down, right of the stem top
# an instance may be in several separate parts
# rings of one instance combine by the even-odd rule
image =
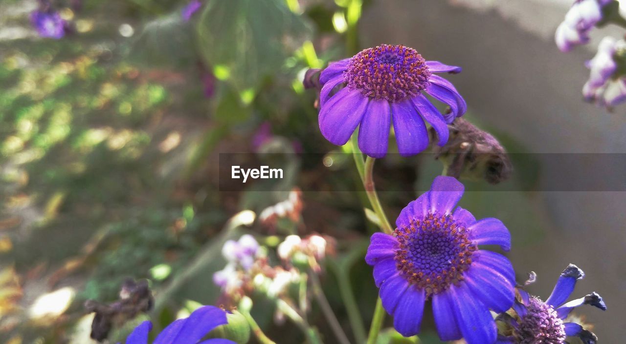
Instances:
[[[426,124],[411,101],[391,103],[391,112],[400,155],[410,157],[426,149],[428,147]]]

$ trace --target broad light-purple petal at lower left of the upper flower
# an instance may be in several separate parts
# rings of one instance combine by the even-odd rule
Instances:
[[[319,112],[319,129],[322,135],[332,144],[346,144],[361,122],[368,102],[369,98],[359,91],[351,91],[350,87],[341,89]]]

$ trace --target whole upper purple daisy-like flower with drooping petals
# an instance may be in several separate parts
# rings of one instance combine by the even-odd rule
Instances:
[[[438,144],[446,144],[447,124],[463,115],[467,106],[449,81],[433,74],[442,72],[458,73],[461,67],[426,61],[415,49],[387,44],[332,62],[319,79],[322,135],[332,144],[344,145],[359,127],[359,148],[379,158],[387,154],[393,123],[400,154],[411,156],[428,147],[428,122]],[[449,113],[441,114],[426,94],[449,106]]]

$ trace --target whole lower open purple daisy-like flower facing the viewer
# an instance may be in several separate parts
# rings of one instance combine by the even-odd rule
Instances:
[[[424,305],[432,299],[441,340],[491,344],[497,331],[490,309],[501,313],[513,305],[513,266],[503,255],[478,249],[509,250],[510,233],[498,219],[476,220],[468,210],[454,209],[463,190],[454,177],[436,177],[402,210],[393,235],[371,237],[365,259],[401,335],[419,333]]]

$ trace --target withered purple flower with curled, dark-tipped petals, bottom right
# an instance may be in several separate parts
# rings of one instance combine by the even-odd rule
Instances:
[[[585,297],[566,302],[572,294],[576,282],[585,277],[580,268],[570,264],[558,278],[557,285],[545,302],[538,297],[531,297],[524,290],[518,289],[520,300],[513,309],[516,318],[508,313],[500,315],[498,320],[508,323],[513,328],[513,335],[498,338],[498,344],[563,344],[567,337],[578,337],[585,344],[595,344],[595,335],[585,330],[579,323],[568,322],[568,315],[581,305],[592,305],[606,310],[602,297],[593,292]]]

